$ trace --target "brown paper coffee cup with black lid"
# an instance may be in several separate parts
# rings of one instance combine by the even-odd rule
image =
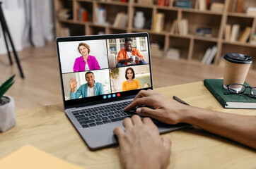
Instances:
[[[224,56],[224,59],[223,88],[228,89],[228,84],[243,84],[252,64],[252,57],[244,54],[229,53]]]

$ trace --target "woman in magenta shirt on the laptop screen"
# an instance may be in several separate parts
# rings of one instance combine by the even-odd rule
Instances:
[[[95,58],[95,56],[89,55],[91,50],[88,44],[85,44],[85,43],[78,44],[78,51],[82,56],[76,58],[76,61],[73,67],[74,72],[100,69],[100,65],[97,59]]]

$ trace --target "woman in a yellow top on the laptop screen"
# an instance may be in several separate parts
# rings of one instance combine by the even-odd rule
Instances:
[[[127,81],[122,83],[122,91],[141,89],[141,84],[139,84],[139,80],[135,80],[135,73],[132,68],[127,68],[125,70],[125,78]]]

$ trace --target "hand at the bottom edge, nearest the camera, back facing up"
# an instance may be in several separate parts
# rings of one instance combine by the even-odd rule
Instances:
[[[121,127],[114,129],[120,144],[124,168],[163,168],[170,156],[170,139],[160,137],[150,118],[141,121],[139,115],[125,118]]]

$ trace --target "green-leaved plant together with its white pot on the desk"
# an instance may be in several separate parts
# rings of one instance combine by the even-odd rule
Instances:
[[[5,132],[16,125],[14,99],[11,96],[4,96],[7,90],[13,85],[14,77],[15,75],[0,86],[0,132]]]

